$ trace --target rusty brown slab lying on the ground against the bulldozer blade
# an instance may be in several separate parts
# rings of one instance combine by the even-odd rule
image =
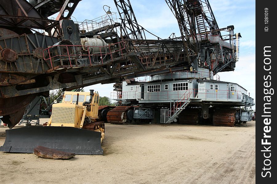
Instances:
[[[43,146],[34,148],[34,154],[46,159],[70,159],[75,156],[75,153],[67,153]]]

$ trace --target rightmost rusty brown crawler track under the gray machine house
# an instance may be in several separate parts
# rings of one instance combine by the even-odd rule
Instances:
[[[213,113],[213,125],[235,126],[235,108],[216,109]]]

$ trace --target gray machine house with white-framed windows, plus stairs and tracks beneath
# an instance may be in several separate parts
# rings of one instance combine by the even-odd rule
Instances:
[[[142,82],[125,80],[122,94],[113,99],[122,105],[156,109],[161,123],[202,121],[223,126],[251,121],[248,108],[255,105],[246,89],[233,82],[220,81],[207,69],[153,75]]]

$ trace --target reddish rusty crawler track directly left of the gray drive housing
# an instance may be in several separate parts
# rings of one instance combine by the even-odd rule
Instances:
[[[108,123],[114,124],[125,124],[127,123],[127,111],[132,108],[132,106],[117,106],[116,108],[110,110],[107,114]]]

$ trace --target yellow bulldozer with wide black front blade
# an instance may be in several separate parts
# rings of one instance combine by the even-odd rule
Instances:
[[[99,94],[65,91],[52,105],[47,126],[6,130],[0,151],[33,153],[37,146],[83,155],[102,155],[105,125],[98,119]]]

